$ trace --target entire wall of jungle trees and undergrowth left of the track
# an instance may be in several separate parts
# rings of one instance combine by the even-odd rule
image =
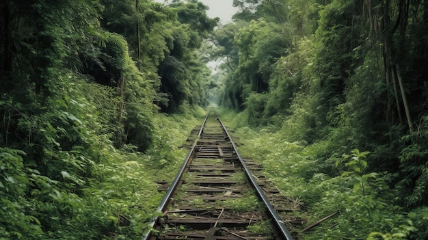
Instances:
[[[197,1],[0,10],[0,239],[140,239],[204,115],[218,19]]]

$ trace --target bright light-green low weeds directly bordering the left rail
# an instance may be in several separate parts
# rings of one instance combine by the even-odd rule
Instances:
[[[154,116],[155,143],[145,154],[140,152],[118,152],[115,161],[101,165],[103,181],[95,181],[88,189],[89,206],[116,204],[115,214],[109,219],[120,226],[121,217],[129,219],[129,227],[119,228],[124,239],[138,239],[148,230],[146,225],[159,206],[163,193],[157,191],[155,181],[172,182],[184,161],[187,150],[178,148],[185,143],[187,135],[200,120],[190,114],[178,116],[159,114]],[[168,131],[164,131],[168,129]],[[126,234],[129,232],[129,234]],[[118,239],[118,236],[115,237]]]

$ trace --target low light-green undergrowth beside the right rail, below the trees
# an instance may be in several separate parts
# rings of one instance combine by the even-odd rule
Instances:
[[[370,152],[356,149],[325,157],[332,148],[329,140],[289,142],[274,126],[243,124],[245,111],[219,116],[235,130],[232,137],[239,138],[241,155],[263,164],[263,174],[280,191],[304,203],[306,213],[293,214],[311,224],[339,212],[304,232],[304,239],[424,239],[426,209],[408,211],[396,203],[399,191],[388,185],[390,174],[367,172]]]

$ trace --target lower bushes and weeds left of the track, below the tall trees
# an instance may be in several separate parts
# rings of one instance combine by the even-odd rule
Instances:
[[[204,116],[200,108],[151,114],[155,144],[146,153],[116,148],[103,124],[114,119],[110,90],[70,84],[34,112],[0,100],[2,124],[16,126],[0,135],[0,239],[140,239],[163,197],[155,181],[172,181],[187,155],[178,147]]]

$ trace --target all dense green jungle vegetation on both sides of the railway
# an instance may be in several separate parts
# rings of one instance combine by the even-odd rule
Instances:
[[[171,2],[1,1],[0,239],[140,239],[209,100],[302,238],[426,238],[428,0]]]

